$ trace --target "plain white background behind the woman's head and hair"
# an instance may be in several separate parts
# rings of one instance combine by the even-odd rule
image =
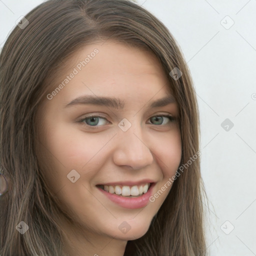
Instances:
[[[0,0],[0,48],[15,21],[41,2]],[[177,40],[196,88],[209,254],[256,255],[256,0],[137,2]],[[234,124],[227,131],[226,118]]]

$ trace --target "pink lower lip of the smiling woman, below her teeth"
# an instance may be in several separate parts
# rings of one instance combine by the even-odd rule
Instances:
[[[152,188],[154,185],[155,185],[155,183],[151,183],[147,192],[145,194],[142,194],[137,197],[120,196],[117,194],[111,194],[99,187],[98,187],[98,189],[103,194],[105,194],[112,202],[119,204],[121,207],[128,208],[128,209],[137,209],[137,208],[145,207],[147,205],[147,203],[149,202],[149,197],[151,196]]]

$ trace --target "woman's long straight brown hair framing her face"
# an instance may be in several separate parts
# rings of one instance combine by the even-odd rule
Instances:
[[[0,197],[1,256],[63,255],[58,209],[43,182],[35,155],[37,109],[58,65],[79,47],[116,40],[150,49],[160,60],[179,110],[180,166],[199,150],[199,120],[192,80],[179,46],[150,12],[128,0],[48,0],[16,26],[0,54],[0,172],[9,190]],[[173,79],[177,67],[182,75]],[[153,217],[146,234],[128,241],[127,256],[203,256],[202,184],[199,157],[190,160]],[[15,226],[24,221],[23,235]]]

